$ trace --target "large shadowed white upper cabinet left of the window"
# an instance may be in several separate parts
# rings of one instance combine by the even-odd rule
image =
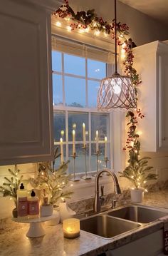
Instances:
[[[26,1],[0,1],[0,164],[53,155],[51,17]]]

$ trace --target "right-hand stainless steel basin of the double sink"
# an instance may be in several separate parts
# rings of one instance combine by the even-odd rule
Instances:
[[[162,210],[145,208],[137,205],[130,205],[118,210],[112,210],[108,213],[110,216],[120,217],[125,220],[131,220],[141,223],[149,223],[154,220],[159,219],[159,217],[164,217],[168,215],[168,212]]]

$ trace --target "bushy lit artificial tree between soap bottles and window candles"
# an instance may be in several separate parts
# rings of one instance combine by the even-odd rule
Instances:
[[[31,178],[31,185],[41,190],[42,197],[45,198],[48,195],[50,205],[56,205],[60,198],[70,198],[73,193],[65,190],[69,181],[69,175],[66,173],[69,160],[55,169],[56,159],[60,155],[61,153],[58,153],[58,148],[56,148],[53,162],[39,163],[37,177]]]

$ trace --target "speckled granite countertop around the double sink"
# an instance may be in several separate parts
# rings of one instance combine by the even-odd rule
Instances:
[[[168,190],[147,193],[143,205],[168,209]],[[83,230],[80,230],[78,238],[72,240],[63,238],[61,224],[56,226],[44,224],[46,230],[44,237],[28,238],[26,237],[28,224],[14,223],[14,225],[15,229],[11,229],[9,224],[9,227],[0,233],[1,256],[95,256],[157,231],[164,223],[158,220],[108,240]]]

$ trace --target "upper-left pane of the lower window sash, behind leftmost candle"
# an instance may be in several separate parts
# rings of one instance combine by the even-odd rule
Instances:
[[[65,141],[65,112],[64,111],[56,111],[53,113],[53,134],[54,140],[60,141],[60,138],[63,138]],[[61,133],[61,131],[63,131]]]

